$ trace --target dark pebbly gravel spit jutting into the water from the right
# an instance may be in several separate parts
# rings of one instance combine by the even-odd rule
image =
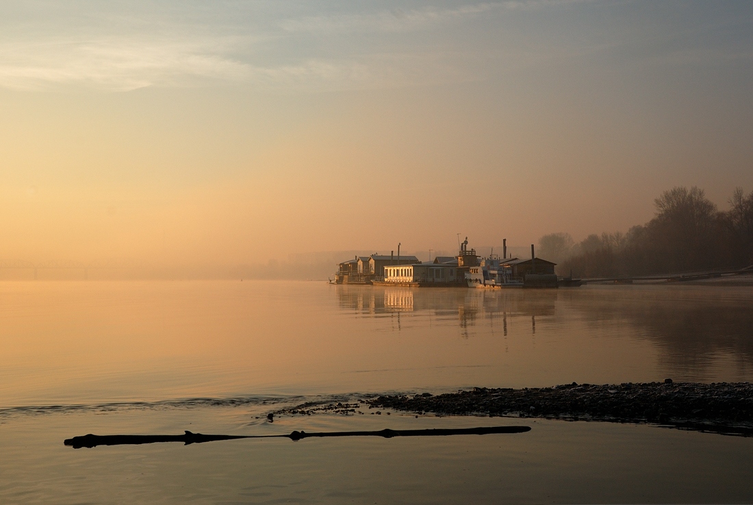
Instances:
[[[563,384],[457,393],[383,395],[370,409],[415,414],[488,415],[567,421],[650,423],[684,430],[753,436],[753,383]]]

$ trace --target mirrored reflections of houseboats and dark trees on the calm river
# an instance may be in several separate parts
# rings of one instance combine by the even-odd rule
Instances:
[[[513,329],[565,337],[648,341],[658,368],[677,377],[714,380],[720,369],[753,375],[753,289],[718,286],[587,286],[581,289],[489,290],[337,286],[340,308],[380,317],[425,315],[475,332]],[[404,326],[405,321],[398,325]],[[542,326],[543,325],[543,326]],[[724,375],[722,373],[721,375]]]

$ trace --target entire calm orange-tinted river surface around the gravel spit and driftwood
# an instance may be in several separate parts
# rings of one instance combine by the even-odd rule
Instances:
[[[0,283],[0,503],[750,502],[753,439],[375,412],[370,393],[751,381],[753,287]],[[72,449],[85,433],[529,433]]]

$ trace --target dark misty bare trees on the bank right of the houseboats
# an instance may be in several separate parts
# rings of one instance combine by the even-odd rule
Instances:
[[[558,271],[572,271],[577,277],[629,277],[753,265],[753,191],[745,195],[737,188],[729,204],[729,210],[720,211],[702,189],[673,188],[654,200],[654,219],[633,226],[626,234],[592,234],[576,244],[568,234],[550,234],[541,237],[541,246],[558,244]],[[566,244],[572,246],[562,253]]]

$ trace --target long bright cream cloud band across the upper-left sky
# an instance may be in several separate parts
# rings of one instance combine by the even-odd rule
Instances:
[[[2,51],[6,52],[6,51]],[[253,65],[206,46],[133,41],[67,42],[16,47],[0,63],[0,86],[51,90],[84,86],[105,91],[199,85],[252,84],[267,90],[323,91],[467,80],[463,54],[371,54],[357,59],[312,57],[282,65]]]

